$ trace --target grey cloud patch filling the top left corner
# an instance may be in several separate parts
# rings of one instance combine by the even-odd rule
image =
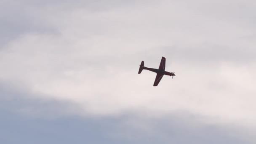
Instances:
[[[28,33],[57,33],[40,18],[41,8],[3,0],[0,5],[0,43],[3,45]]]

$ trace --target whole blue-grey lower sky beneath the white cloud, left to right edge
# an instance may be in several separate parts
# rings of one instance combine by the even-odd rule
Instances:
[[[253,144],[234,125],[203,123],[204,117],[176,111],[164,117],[126,112],[116,116],[74,115],[74,104],[35,99],[11,85],[0,85],[1,143],[208,143]],[[26,111],[29,110],[29,111]],[[65,111],[63,113],[63,111]],[[78,113],[79,114],[79,113]],[[43,116],[43,117],[42,117]],[[235,130],[235,131],[234,131]]]

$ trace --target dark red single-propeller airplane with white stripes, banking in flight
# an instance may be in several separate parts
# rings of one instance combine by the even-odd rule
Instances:
[[[155,77],[155,82],[153,86],[157,86],[160,80],[162,79],[163,75],[169,75],[169,76],[175,76],[175,72],[167,72],[165,71],[165,57],[162,56],[160,66],[158,69],[148,68],[144,67],[144,61],[141,61],[141,65],[139,66],[139,74],[142,72],[143,69],[147,69],[151,72],[157,73],[157,76]]]

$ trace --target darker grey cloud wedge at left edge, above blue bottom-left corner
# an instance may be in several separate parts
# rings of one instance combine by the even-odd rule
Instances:
[[[23,87],[23,86],[22,86]],[[63,115],[77,115],[81,112],[80,107],[70,101],[58,101],[38,99],[37,93],[29,93],[26,87],[21,88],[11,83],[0,84],[0,108],[13,114],[24,114],[31,117],[55,118]]]

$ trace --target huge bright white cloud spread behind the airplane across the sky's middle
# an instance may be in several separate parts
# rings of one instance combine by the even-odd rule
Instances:
[[[28,32],[5,45],[0,78],[39,96],[77,103],[86,114],[165,115],[181,109],[213,117],[207,122],[255,126],[253,20],[241,22],[232,12],[215,15],[229,1],[211,9],[201,1],[189,4],[136,3],[104,11],[40,7],[36,19],[55,31]],[[138,75],[138,66],[144,60],[158,67],[161,56],[177,76],[152,87],[155,74]]]

